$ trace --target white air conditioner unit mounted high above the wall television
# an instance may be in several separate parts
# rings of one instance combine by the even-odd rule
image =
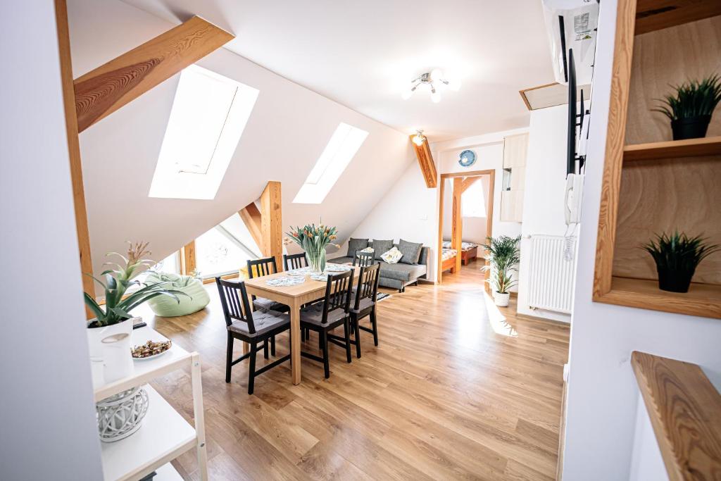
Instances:
[[[568,83],[568,50],[573,49],[576,81],[590,84],[596,58],[597,0],[542,0],[551,45],[553,71],[559,84]]]

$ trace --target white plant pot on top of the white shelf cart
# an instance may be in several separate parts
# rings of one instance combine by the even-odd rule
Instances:
[[[125,319],[123,322],[110,326],[87,329],[90,360],[103,363],[103,377],[106,382],[128,376],[133,370],[131,334],[134,319],[138,319],[138,317]],[[107,337],[123,334],[126,336],[120,336],[120,340],[117,342],[102,342]]]

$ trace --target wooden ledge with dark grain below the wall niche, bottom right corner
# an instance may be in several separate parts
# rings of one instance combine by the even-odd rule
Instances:
[[[721,394],[696,364],[634,351],[631,365],[671,481],[721,476]]]

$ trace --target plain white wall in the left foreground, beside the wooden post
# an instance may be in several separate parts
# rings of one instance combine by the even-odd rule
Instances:
[[[53,1],[0,26],[0,479],[101,480]]]

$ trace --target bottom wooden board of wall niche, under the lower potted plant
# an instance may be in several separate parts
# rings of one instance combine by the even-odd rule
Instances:
[[[661,291],[658,281],[614,276],[611,291],[596,299],[607,304],[721,319],[721,286],[691,283],[686,294]]]

